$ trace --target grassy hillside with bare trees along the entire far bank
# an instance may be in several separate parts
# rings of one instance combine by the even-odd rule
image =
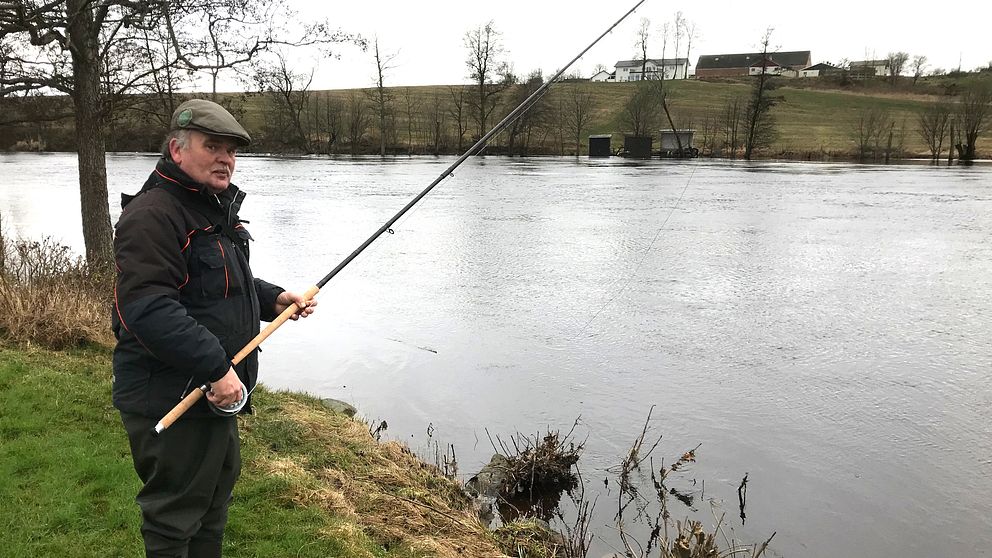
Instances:
[[[505,84],[489,113],[502,118],[539,85],[539,76]],[[752,146],[762,157],[844,158],[884,162],[903,157],[942,161],[988,155],[992,121],[989,82],[956,86],[956,95],[850,95],[797,89],[801,82],[768,80],[771,106],[755,127]],[[822,84],[817,84],[817,87]],[[587,153],[591,134],[652,135],[669,128],[695,130],[693,146],[704,156],[743,157],[758,80],[731,82],[556,84],[534,108],[487,150],[489,154]],[[942,88],[933,87],[935,90]],[[242,119],[254,138],[249,151],[286,154],[458,154],[478,137],[472,85],[309,91],[272,89],[219,94],[216,100]],[[210,94],[198,95],[210,97]],[[136,95],[119,102],[105,121],[110,151],[154,152],[167,131],[171,108],[189,94]],[[20,123],[0,126],[0,150],[76,149],[73,122],[46,115],[67,108],[64,97],[0,100]],[[125,108],[126,107],[126,108]],[[984,142],[984,143],[983,143]],[[657,144],[656,144],[657,147]],[[969,150],[974,150],[969,153]]]

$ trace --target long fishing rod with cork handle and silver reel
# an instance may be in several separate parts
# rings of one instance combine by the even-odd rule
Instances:
[[[403,209],[399,210],[399,212],[397,212],[396,215],[393,215],[388,221],[383,223],[383,225],[379,227],[379,230],[372,233],[372,236],[370,236],[365,242],[363,242],[358,248],[356,248],[354,252],[352,252],[347,258],[341,260],[341,263],[339,263],[334,269],[330,271],[330,273],[328,273],[320,281],[318,281],[317,284],[308,288],[306,292],[303,293],[303,300],[306,301],[312,300],[313,297],[315,297],[317,293],[320,292],[320,289],[322,289],[324,285],[327,284],[328,281],[330,281],[335,275],[337,275],[338,272],[344,269],[345,266],[347,266],[349,263],[352,262],[352,260],[357,258],[359,254],[364,252],[365,249],[368,248],[370,244],[375,242],[377,238],[382,236],[383,233],[390,231],[391,227],[396,223],[396,221],[398,221],[401,217],[403,217],[403,215],[405,215],[407,211],[412,209],[413,206],[417,205],[417,203],[421,199],[423,199],[424,196],[429,194],[430,191],[433,190],[435,186],[440,184],[442,180],[451,176],[451,174],[455,171],[455,169],[458,168],[458,166],[461,165],[463,162],[465,162],[466,159],[481,151],[482,148],[485,147],[486,143],[493,138],[493,136],[502,132],[507,126],[512,124],[518,118],[520,118],[520,116],[522,116],[528,109],[530,109],[534,104],[536,104],[537,101],[539,101],[541,97],[544,96],[544,94],[548,91],[548,89],[550,89],[551,86],[562,76],[562,74],[564,74],[565,71],[572,66],[572,64],[575,64],[575,62],[578,61],[579,58],[582,58],[585,55],[585,53],[589,51],[589,49],[596,46],[596,43],[602,40],[603,37],[610,34],[610,32],[613,31],[613,29],[616,28],[616,26],[620,25],[620,23],[623,22],[623,20],[627,19],[627,17],[630,16],[630,14],[634,13],[637,10],[637,8],[639,8],[641,4],[643,4],[646,1],[647,0],[639,0],[636,4],[634,4],[633,8],[628,10],[627,13],[621,16],[620,19],[618,19],[613,25],[607,28],[606,31],[603,31],[603,33],[599,37],[596,37],[596,40],[589,43],[589,46],[582,49],[582,52],[576,55],[575,58],[572,58],[572,60],[569,61],[568,64],[565,64],[565,66],[562,67],[560,70],[558,70],[558,73],[552,76],[551,79],[549,79],[544,84],[542,84],[541,87],[539,87],[533,93],[531,93],[530,96],[524,99],[523,102],[517,105],[516,108],[510,111],[509,114],[507,114],[502,120],[500,120],[495,126],[493,126],[492,129],[489,130],[489,132],[487,132],[484,136],[479,138],[479,141],[475,142],[475,144],[473,144],[472,147],[469,147],[468,150],[465,151],[465,153],[462,153],[462,155],[458,157],[458,159],[456,159],[455,162],[451,164],[451,166],[445,169],[444,172],[438,175],[438,177],[435,178],[434,181],[430,183],[430,185],[424,188],[422,192],[417,194],[415,198],[413,198],[412,200],[410,200],[409,203],[403,206]],[[252,339],[247,345],[245,345],[243,349],[238,351],[238,354],[234,355],[234,358],[231,359],[231,364],[236,365],[242,360],[244,360],[245,357],[250,355],[252,351],[257,349],[258,346],[262,344],[262,341],[265,341],[269,337],[269,335],[271,335],[275,330],[279,329],[279,327],[282,326],[282,324],[286,323],[286,321],[299,310],[300,308],[295,304],[287,307],[281,314],[279,314],[279,316],[275,320],[269,322],[269,325],[266,326],[265,329],[263,329],[261,332],[259,332],[259,334],[256,335],[255,338]],[[179,417],[183,415],[183,413],[188,411],[190,407],[196,404],[196,402],[199,401],[200,398],[203,397],[203,395],[206,394],[208,391],[210,391],[210,384],[204,384],[199,388],[191,391],[189,395],[183,398],[183,400],[180,401],[178,405],[173,407],[171,411],[169,411],[164,417],[162,417],[160,421],[158,421],[158,424],[156,424],[155,427],[152,429],[152,433],[155,435],[161,434],[165,429],[172,426],[172,423],[176,422],[176,420],[178,420]],[[244,384],[241,385],[241,392],[242,392],[242,399],[238,403],[223,408],[216,407],[211,404],[213,409],[219,414],[230,414],[230,415],[237,414],[237,412],[240,411],[241,408],[244,406],[244,404],[247,402],[249,395]]]

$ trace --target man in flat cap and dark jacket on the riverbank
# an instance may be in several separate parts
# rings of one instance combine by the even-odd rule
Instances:
[[[291,305],[298,307],[293,319],[306,317],[316,302],[252,276],[251,235],[238,217],[245,194],[231,184],[248,132],[206,100],[181,104],[171,130],[141,191],[122,196],[113,401],[144,483],[137,502],[146,555],[217,557],[241,454],[237,418],[208,401],[237,404],[242,384],[251,393],[257,355],[237,366],[231,358],[258,334],[260,319]],[[204,384],[206,400],[152,435],[162,416]]]

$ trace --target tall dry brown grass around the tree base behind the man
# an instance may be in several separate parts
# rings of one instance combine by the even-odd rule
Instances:
[[[3,234],[0,220],[0,337],[51,349],[109,345],[111,283],[51,239]]]

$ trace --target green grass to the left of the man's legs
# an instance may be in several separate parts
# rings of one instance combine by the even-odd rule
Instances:
[[[109,376],[100,353],[0,350],[0,556],[141,553],[139,483]]]

